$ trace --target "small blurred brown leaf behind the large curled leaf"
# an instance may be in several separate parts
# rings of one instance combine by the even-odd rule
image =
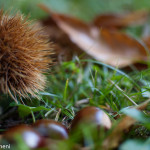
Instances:
[[[148,18],[147,11],[136,11],[129,14],[102,14],[95,18],[93,24],[97,27],[118,29],[130,25],[140,25]]]

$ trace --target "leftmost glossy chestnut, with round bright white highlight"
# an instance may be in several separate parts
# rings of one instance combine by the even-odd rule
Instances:
[[[19,125],[13,128],[10,128],[4,134],[4,140],[15,145],[17,137],[22,138],[23,142],[29,148],[41,148],[46,146],[45,139],[37,133],[34,129],[27,125]]]

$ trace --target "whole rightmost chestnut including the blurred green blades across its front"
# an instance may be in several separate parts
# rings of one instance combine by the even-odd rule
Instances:
[[[82,146],[91,146],[99,142],[104,133],[111,128],[108,115],[98,107],[86,107],[80,110],[72,121],[70,137]]]

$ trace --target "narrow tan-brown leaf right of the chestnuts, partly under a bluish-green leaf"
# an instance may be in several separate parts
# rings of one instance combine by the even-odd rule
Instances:
[[[135,108],[138,110],[144,110],[147,107],[149,102],[150,102],[150,99],[143,102],[139,106],[136,106]],[[135,122],[136,122],[135,119],[129,116],[125,116],[119,122],[119,124],[113,129],[111,135],[108,136],[106,140],[103,142],[103,148],[106,150],[116,148],[119,145],[119,142],[121,141],[123,137],[124,131],[126,129],[129,129]]]

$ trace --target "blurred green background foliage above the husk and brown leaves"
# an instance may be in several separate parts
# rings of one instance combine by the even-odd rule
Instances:
[[[57,12],[70,14],[87,21],[99,13],[121,13],[136,9],[150,10],[149,0],[0,0],[0,6],[5,10],[10,8],[20,10],[36,19],[46,15],[38,8],[39,3],[46,4]]]

